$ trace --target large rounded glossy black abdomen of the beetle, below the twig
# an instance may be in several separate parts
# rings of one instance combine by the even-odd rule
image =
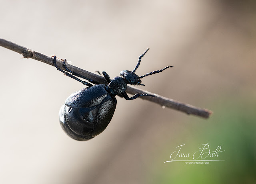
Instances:
[[[102,87],[101,85],[97,86]],[[90,88],[94,88],[94,86]],[[103,90],[102,88],[98,88],[96,91],[87,90],[90,88],[85,88],[75,92],[70,95],[66,102],[70,102],[70,104],[72,104],[72,100],[70,100],[70,98],[74,99],[74,96],[79,96],[80,99],[90,99],[86,96],[90,96],[91,92],[94,92],[94,95],[95,93],[98,93],[98,96],[104,96],[104,98],[90,103],[84,100],[84,104],[79,104],[78,108],[76,108],[76,106],[68,106],[65,102],[59,113],[60,124],[64,131],[70,137],[78,141],[92,139],[106,129],[116,109],[116,98],[112,98],[108,93],[106,93],[105,89]]]

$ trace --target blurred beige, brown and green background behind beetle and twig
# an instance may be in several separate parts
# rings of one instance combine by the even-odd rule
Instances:
[[[84,88],[54,67],[0,47],[0,183],[256,183],[256,3],[253,0],[0,0],[0,37],[111,78],[134,69],[142,89],[212,110],[209,119],[149,101],[118,104],[105,131],[80,142],[58,112]],[[179,145],[220,145],[222,162],[167,162]],[[190,158],[191,159],[191,158]]]

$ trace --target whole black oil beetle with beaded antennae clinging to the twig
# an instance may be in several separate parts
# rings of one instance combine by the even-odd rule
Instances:
[[[150,94],[137,93],[129,98],[125,92],[127,84],[144,86],[144,84],[141,84],[141,78],[162,72],[163,70],[172,67],[168,66],[143,76],[136,75],[135,71],[140,65],[141,58],[145,55],[148,49],[139,56],[138,63],[132,72],[123,70],[120,72],[120,76],[110,80],[108,74],[103,71],[102,74],[108,82],[108,85],[98,84],[90,78],[84,78],[79,74],[71,72],[66,67],[66,59],[64,60],[63,65],[68,72],[60,69],[56,65],[56,56],[54,56],[53,63],[58,70],[88,86],[87,88],[71,94],[66,99],[65,104],[60,108],[60,124],[70,137],[78,141],[86,141],[94,138],[106,129],[116,109],[116,95],[124,97],[125,100],[134,100],[140,96],[154,97],[154,95]],[[93,86],[91,83],[82,81],[74,75],[84,78],[96,85]]]

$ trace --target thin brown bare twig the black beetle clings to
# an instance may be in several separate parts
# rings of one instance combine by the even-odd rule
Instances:
[[[54,64],[52,62],[53,61],[52,57],[43,55],[42,53],[39,53],[39,52],[33,51],[31,49],[28,49],[26,47],[17,45],[16,43],[12,43],[10,41],[7,41],[5,39],[0,38],[0,46],[5,47],[7,49],[10,49],[12,51],[15,51],[17,53],[20,53],[24,56],[24,58],[36,59],[36,60],[42,61],[43,63],[46,63],[48,65],[54,66]],[[60,61],[60,60],[57,59],[56,64],[62,70],[66,70],[63,67],[63,61]],[[67,67],[70,71],[72,71],[74,73],[77,73],[81,76],[84,76],[86,78],[90,78],[90,79],[98,82],[99,84],[107,84],[105,78],[102,77],[102,76],[99,76],[99,75],[94,74],[92,72],[88,72],[86,70],[80,69],[80,68],[75,67],[73,65],[67,64]],[[144,90],[135,88],[133,86],[128,86],[126,92],[128,92],[130,94],[148,93],[148,94],[154,95],[154,93],[144,91]],[[159,104],[160,106],[164,106],[164,107],[167,107],[167,108],[172,108],[172,109],[175,109],[175,110],[185,112],[186,114],[198,115],[198,116],[204,117],[204,118],[208,118],[210,116],[210,114],[212,114],[212,112],[207,110],[207,109],[197,108],[195,106],[191,106],[189,104],[178,102],[176,100],[172,100],[170,98],[166,98],[166,97],[160,96],[158,94],[155,94],[154,98],[150,97],[150,96],[143,96],[142,99],[149,100],[151,102],[155,102],[155,103]]]

